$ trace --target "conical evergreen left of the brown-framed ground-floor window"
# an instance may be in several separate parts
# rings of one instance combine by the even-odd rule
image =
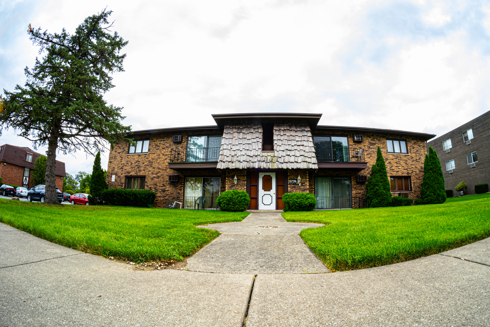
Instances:
[[[378,147],[376,163],[371,167],[371,175],[366,183],[368,207],[386,207],[392,201],[390,182],[386,171],[385,159]]]

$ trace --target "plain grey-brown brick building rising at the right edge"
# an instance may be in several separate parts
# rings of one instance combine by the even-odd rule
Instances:
[[[447,190],[465,181],[467,194],[476,184],[490,184],[490,111],[427,143],[437,152]]]

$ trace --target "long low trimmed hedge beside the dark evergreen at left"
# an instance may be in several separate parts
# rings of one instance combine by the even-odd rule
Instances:
[[[156,193],[152,190],[110,188],[102,192],[102,200],[110,205],[152,207],[155,198]]]

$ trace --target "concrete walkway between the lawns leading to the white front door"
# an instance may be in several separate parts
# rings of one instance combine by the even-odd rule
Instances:
[[[321,224],[287,223],[277,211],[255,211],[242,222],[197,226],[222,234],[187,259],[190,271],[227,274],[326,273],[298,233]]]

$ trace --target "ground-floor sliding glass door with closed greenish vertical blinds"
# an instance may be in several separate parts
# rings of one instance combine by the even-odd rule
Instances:
[[[349,177],[316,177],[317,209],[345,209],[352,207]]]

